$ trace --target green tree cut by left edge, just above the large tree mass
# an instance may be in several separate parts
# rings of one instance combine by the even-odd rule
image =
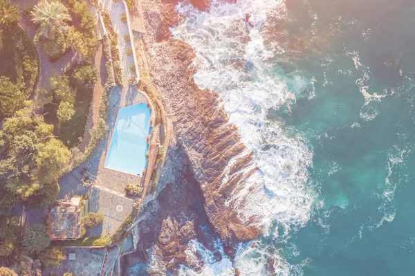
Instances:
[[[0,76],[0,118],[12,116],[24,100],[25,95],[19,86],[10,82],[8,77]]]

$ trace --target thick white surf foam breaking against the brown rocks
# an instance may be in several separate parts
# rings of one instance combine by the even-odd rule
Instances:
[[[293,92],[308,85],[301,75],[293,76],[291,84],[297,88],[290,91],[273,77],[274,64],[269,60],[275,59],[275,49],[264,45],[261,26],[269,14],[284,11],[284,1],[213,0],[208,12],[183,3],[176,8],[185,21],[172,28],[172,33],[196,52],[196,84],[217,91],[225,100],[225,110],[237,125],[244,144],[255,153],[259,168],[227,204],[238,210],[243,220],[252,215],[262,217],[265,235],[277,238],[281,235],[276,230],[278,226],[287,238],[291,230],[304,226],[310,218],[315,192],[307,185],[312,154],[306,142],[299,134],[288,136],[282,122],[268,119],[268,111],[295,100]],[[250,25],[245,22],[247,14]],[[241,268],[242,275],[265,273],[267,259],[261,250],[261,245],[239,250],[234,266]],[[252,254],[263,257],[252,261]],[[299,269],[278,260],[278,275]]]

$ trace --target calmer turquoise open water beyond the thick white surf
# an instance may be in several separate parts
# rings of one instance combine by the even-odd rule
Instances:
[[[293,91],[291,75],[314,77],[314,95],[273,116],[308,141],[318,196],[287,243],[265,242],[304,275],[415,275],[415,2],[286,3],[283,28],[316,35],[275,71]]]

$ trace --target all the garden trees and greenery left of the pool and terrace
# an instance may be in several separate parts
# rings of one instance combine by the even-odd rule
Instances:
[[[107,100],[115,82],[111,51],[118,54],[115,40],[109,43],[104,37],[109,77],[90,146],[80,153],[77,144],[84,135],[98,80],[91,64],[98,46],[95,18],[81,0],[39,1],[23,14],[37,28],[33,41],[19,26],[18,6],[0,0],[0,267],[15,271],[0,268],[0,275],[41,275],[40,262],[43,267],[57,266],[66,259],[62,250],[50,247],[48,223],[23,229],[17,217],[3,214],[15,214],[16,203],[26,210],[48,207],[57,199],[57,179],[92,154],[107,133]],[[35,91],[39,59],[34,43],[52,61],[72,50],[78,63],[62,75],[53,75],[45,89]],[[92,228],[102,223],[103,216],[90,212],[82,221],[84,228]],[[75,242],[105,246],[111,240]]]

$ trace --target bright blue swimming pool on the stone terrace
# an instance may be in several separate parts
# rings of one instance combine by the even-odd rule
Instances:
[[[147,135],[150,131],[147,104],[134,104],[118,110],[104,167],[141,176],[147,165]]]

